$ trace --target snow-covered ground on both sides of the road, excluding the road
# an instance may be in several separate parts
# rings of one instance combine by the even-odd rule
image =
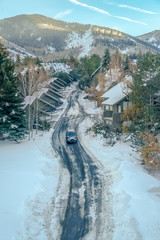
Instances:
[[[67,96],[71,90],[66,90]],[[144,170],[129,143],[119,141],[111,147],[100,135],[86,133],[101,119],[102,110],[83,97],[79,101],[87,118],[80,124],[79,139],[103,178],[101,239],[160,240],[160,181]],[[66,105],[67,101],[64,109]],[[20,144],[0,143],[2,240],[58,239],[60,196],[67,198],[69,175],[52,148],[52,132],[39,132]],[[85,239],[95,240],[94,228]]]

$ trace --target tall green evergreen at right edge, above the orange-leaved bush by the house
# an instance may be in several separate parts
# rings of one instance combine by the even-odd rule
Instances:
[[[159,128],[160,119],[160,70],[157,56],[147,53],[140,56],[138,69],[130,85],[130,101],[137,106],[139,113],[134,121],[136,131],[153,132]]]

